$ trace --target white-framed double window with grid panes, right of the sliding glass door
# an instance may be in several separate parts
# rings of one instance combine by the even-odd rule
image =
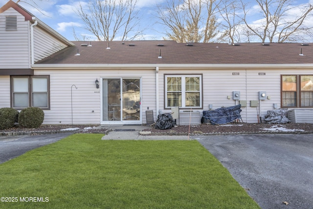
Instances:
[[[202,107],[202,75],[165,75],[165,108],[171,107]]]

